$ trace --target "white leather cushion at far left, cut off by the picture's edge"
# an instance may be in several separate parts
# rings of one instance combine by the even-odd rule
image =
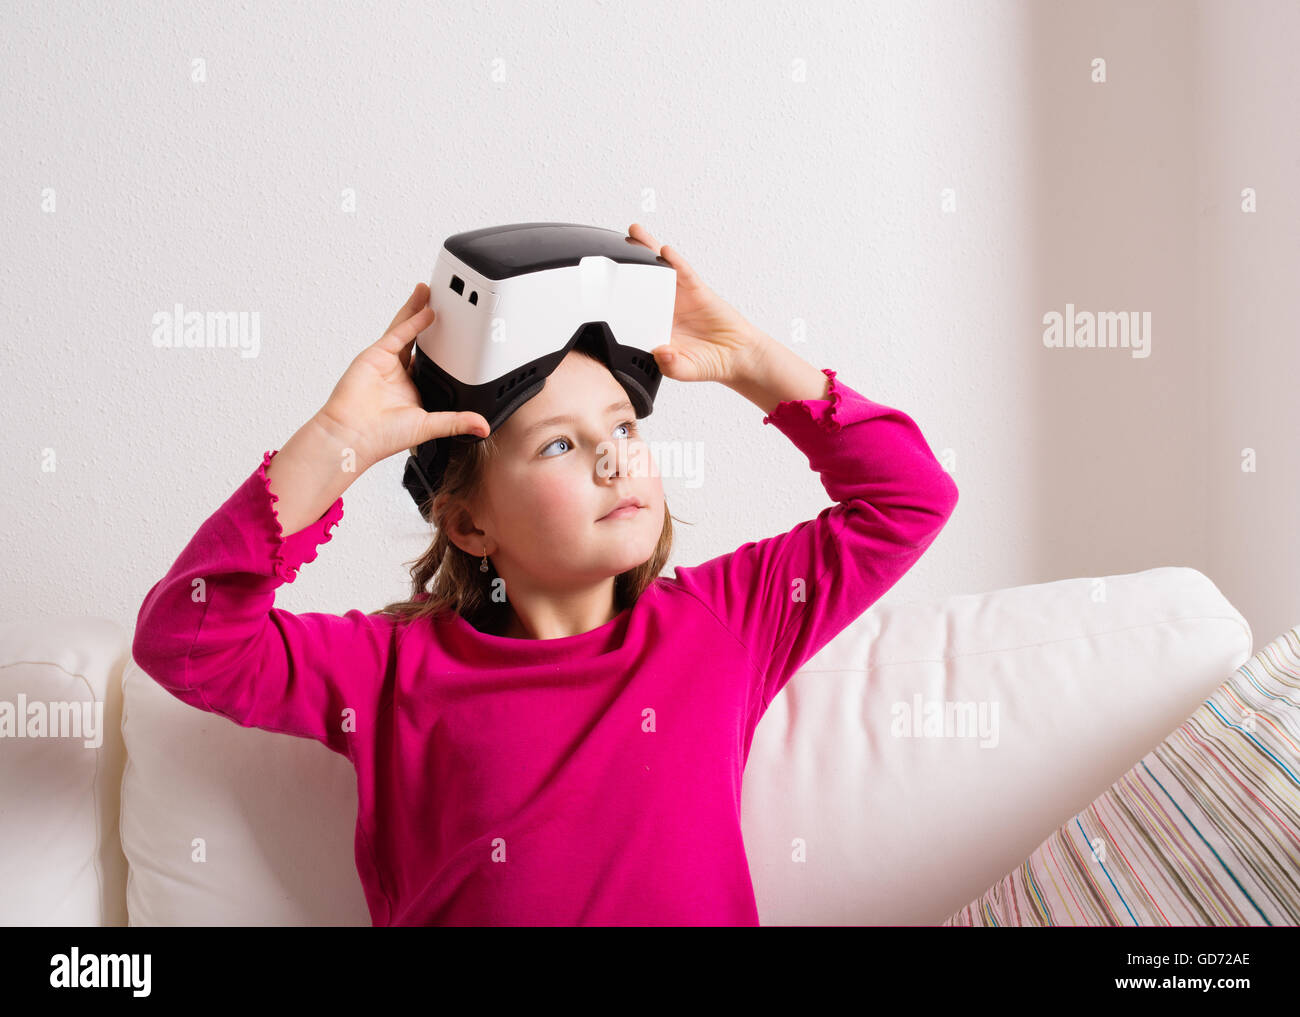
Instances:
[[[117,812],[127,659],[129,633],[104,619],[0,626],[0,925],[126,923]],[[75,710],[92,727],[72,736],[55,719],[44,737],[16,736],[36,731],[22,723],[32,706],[69,720]]]

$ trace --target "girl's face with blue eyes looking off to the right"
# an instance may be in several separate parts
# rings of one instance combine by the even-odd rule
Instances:
[[[473,516],[507,587],[580,592],[650,559],[663,484],[604,364],[571,352],[495,438]],[[624,498],[642,507],[608,516]]]

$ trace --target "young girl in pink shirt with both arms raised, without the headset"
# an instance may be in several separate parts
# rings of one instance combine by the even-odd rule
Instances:
[[[411,600],[274,607],[361,472],[486,434],[477,414],[426,414],[407,375],[433,320],[421,285],[140,609],[134,657],[177,698],[352,762],[374,925],[757,925],[740,808],[754,730],[957,503],[911,417],[659,254],[677,272],[660,371],[762,410],[836,502],[815,519],[659,576],[672,533],[659,475],[633,466],[649,456],[619,382],[572,351],[490,437],[456,442],[424,506],[438,533]],[[737,492],[737,508],[755,494]]]

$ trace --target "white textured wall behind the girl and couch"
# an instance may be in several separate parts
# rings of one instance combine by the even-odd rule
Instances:
[[[889,597],[1192,564],[1257,641],[1300,620],[1300,429],[1294,401],[1271,402],[1297,356],[1280,306],[1294,5],[9,3],[0,18],[9,618],[133,624],[443,237],[562,220],[649,224],[762,328],[916,419],[962,499]],[[1258,213],[1236,211],[1242,186]],[[1044,349],[1043,315],[1067,302],[1150,311],[1152,355]],[[153,315],[177,303],[259,312],[257,355],[155,349]],[[702,486],[667,481],[694,523],[673,563],[826,506],[760,417],[718,386],[660,389],[650,437],[703,442],[706,467]],[[1261,449],[1249,479],[1244,446]],[[280,606],[404,593],[428,531],[400,472],[398,456],[348,490]]]

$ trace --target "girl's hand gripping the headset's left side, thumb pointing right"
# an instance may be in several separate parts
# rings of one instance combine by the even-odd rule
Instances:
[[[489,433],[480,414],[425,411],[408,372],[415,338],[432,321],[429,287],[421,282],[384,338],[358,355],[317,414],[326,428],[347,437],[361,468],[433,438]]]

